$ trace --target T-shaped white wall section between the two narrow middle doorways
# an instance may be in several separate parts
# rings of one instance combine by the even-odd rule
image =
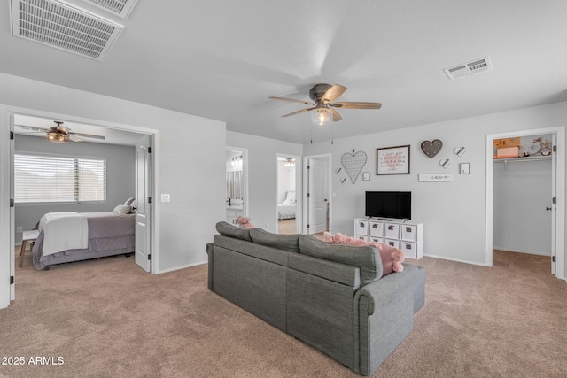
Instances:
[[[248,150],[248,216],[252,224],[276,232],[277,155],[301,156],[302,145],[232,131],[227,131],[227,145]]]

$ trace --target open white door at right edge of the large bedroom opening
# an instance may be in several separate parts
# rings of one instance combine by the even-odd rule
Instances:
[[[150,135],[136,143],[136,264],[151,272]]]

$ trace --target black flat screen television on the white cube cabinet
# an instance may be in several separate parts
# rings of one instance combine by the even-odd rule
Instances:
[[[367,217],[411,220],[410,191],[367,191]]]

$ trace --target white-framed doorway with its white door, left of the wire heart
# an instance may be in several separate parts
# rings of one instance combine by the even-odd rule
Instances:
[[[322,235],[330,232],[332,212],[330,206],[330,154],[309,156],[303,159],[304,214],[303,233]]]

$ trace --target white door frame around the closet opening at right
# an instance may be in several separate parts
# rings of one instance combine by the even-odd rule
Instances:
[[[494,139],[541,134],[556,135],[555,158],[555,276],[565,277],[565,127],[547,127],[486,135],[485,266],[493,266]],[[553,231],[552,231],[553,235]],[[553,254],[553,251],[552,251]]]

